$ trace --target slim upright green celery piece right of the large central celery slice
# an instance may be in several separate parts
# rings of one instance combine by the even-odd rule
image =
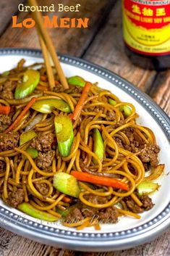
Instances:
[[[93,129],[93,152],[101,161],[103,160],[104,144],[101,133],[97,128]],[[96,163],[96,160],[93,159],[93,162]]]

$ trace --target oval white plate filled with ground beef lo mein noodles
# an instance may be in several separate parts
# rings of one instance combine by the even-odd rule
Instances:
[[[118,75],[0,51],[0,225],[81,250],[134,247],[169,226],[169,117]],[[76,247],[75,247],[76,246]]]

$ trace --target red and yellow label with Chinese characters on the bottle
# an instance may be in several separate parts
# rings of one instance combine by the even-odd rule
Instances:
[[[124,42],[146,55],[170,54],[170,1],[122,0]]]

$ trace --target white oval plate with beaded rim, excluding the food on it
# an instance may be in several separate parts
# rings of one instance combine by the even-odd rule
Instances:
[[[42,62],[41,52],[38,50],[1,49],[0,73],[14,67],[21,57],[27,60],[26,65]],[[158,179],[161,188],[152,197],[155,206],[152,210],[144,212],[140,220],[124,217],[119,223],[103,225],[101,231],[94,231],[93,228],[75,231],[61,226],[60,223],[42,223],[41,220],[0,202],[0,225],[36,241],[85,251],[124,249],[155,238],[170,223],[169,117],[146,94],[118,75],[82,59],[68,56],[60,56],[60,59],[66,76],[80,75],[93,83],[98,81],[101,88],[109,89],[122,101],[134,104],[140,115],[137,123],[148,126],[156,134],[157,144],[161,147],[159,159],[161,163],[165,163],[166,170]]]

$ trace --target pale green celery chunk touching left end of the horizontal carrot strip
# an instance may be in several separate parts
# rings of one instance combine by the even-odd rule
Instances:
[[[68,173],[56,173],[53,186],[61,193],[68,194],[71,197],[79,197],[80,187],[77,179]]]

